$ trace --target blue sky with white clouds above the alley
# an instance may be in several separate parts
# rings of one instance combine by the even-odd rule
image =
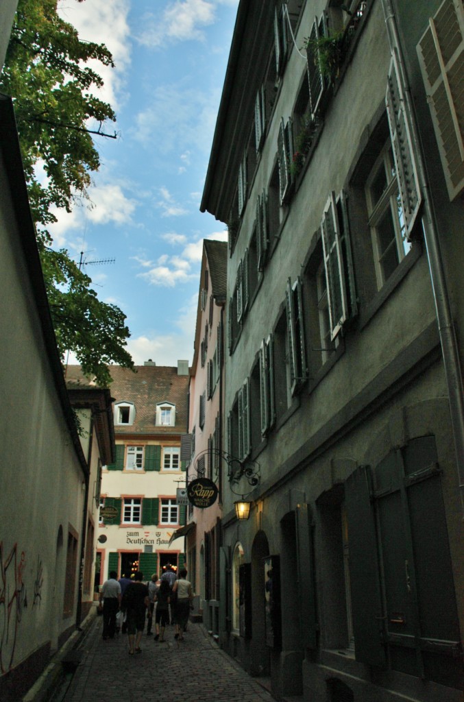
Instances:
[[[57,212],[55,246],[88,265],[100,299],[118,305],[135,364],[192,361],[203,239],[225,226],[199,212],[238,0],[63,0],[81,39],[116,67],[98,71],[117,112],[98,138],[91,208]]]

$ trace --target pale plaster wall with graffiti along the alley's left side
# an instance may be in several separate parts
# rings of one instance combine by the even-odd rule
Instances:
[[[69,585],[55,571],[55,552],[60,528],[65,550],[69,525],[81,531],[84,505],[84,475],[58,402],[22,235],[0,160],[1,673],[74,624],[77,578],[72,615],[63,618]]]

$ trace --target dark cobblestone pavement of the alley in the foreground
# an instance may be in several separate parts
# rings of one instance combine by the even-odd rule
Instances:
[[[164,643],[145,633],[142,652],[130,656],[126,635],[102,640],[102,619],[95,618],[81,644],[81,664],[63,702],[272,702],[273,698],[222,651],[201,624],[192,624],[183,641],[166,627]]]

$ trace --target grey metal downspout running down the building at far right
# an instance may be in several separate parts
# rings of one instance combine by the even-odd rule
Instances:
[[[416,152],[418,164],[418,179],[424,196],[422,225],[430,270],[430,282],[432,283],[432,292],[435,300],[438,331],[440,343],[442,345],[443,364],[451,414],[451,428],[453,430],[454,446],[456,450],[461,513],[464,518],[464,389],[458,354],[458,343],[456,341],[456,331],[451,316],[451,305],[448,286],[446,285],[437,221],[433,209],[432,197],[430,196],[430,186],[424,165],[423,150],[418,136],[416,113],[404,63],[401,41],[399,39],[396,13],[393,8],[392,0],[382,0],[382,5],[390,48],[392,51],[396,52],[399,68],[402,72],[404,95],[406,98],[405,109],[409,113],[411,121],[411,133],[414,142],[413,147]]]

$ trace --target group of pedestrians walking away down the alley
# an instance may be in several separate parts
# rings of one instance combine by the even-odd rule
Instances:
[[[147,618],[147,635],[151,635],[153,614],[155,616],[154,640],[164,642],[168,624],[175,624],[174,638],[182,641],[192,607],[192,585],[187,580],[187,570],[179,576],[170,564],[161,575],[152,575],[148,585],[142,582],[143,574],[137,571],[133,579],[120,578],[112,571],[102,585],[100,606],[103,614],[103,640],[114,638],[117,632],[117,616],[124,618],[122,633],[127,631],[129,654],[140,654],[140,642]]]

